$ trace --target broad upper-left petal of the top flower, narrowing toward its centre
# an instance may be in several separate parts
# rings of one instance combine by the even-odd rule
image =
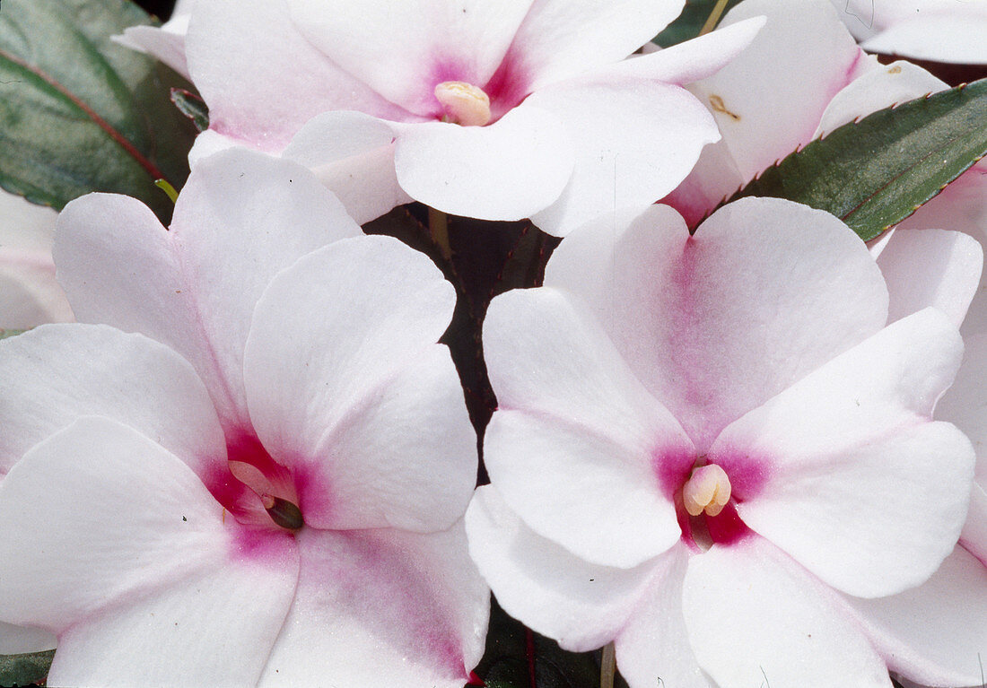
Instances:
[[[196,3],[186,38],[192,81],[209,128],[276,152],[330,110],[414,118],[351,76],[299,33],[288,0]]]

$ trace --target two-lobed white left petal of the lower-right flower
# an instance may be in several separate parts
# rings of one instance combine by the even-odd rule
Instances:
[[[555,289],[510,291],[487,312],[484,348],[499,404],[484,456],[510,508],[593,564],[671,547],[671,490],[695,449],[592,316]]]

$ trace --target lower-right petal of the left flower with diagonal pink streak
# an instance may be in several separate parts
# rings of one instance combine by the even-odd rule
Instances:
[[[298,543],[298,591],[263,688],[462,688],[483,654],[490,590],[461,522],[429,535],[306,528]]]

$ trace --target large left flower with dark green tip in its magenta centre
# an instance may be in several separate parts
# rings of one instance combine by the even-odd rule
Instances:
[[[229,151],[169,230],[73,201],[55,260],[79,319],[114,327],[0,343],[0,619],[57,635],[49,682],[461,688],[489,590],[427,258]]]

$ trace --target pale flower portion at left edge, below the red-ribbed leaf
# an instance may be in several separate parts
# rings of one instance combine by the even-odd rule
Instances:
[[[72,320],[51,261],[57,213],[0,191],[0,330]]]

